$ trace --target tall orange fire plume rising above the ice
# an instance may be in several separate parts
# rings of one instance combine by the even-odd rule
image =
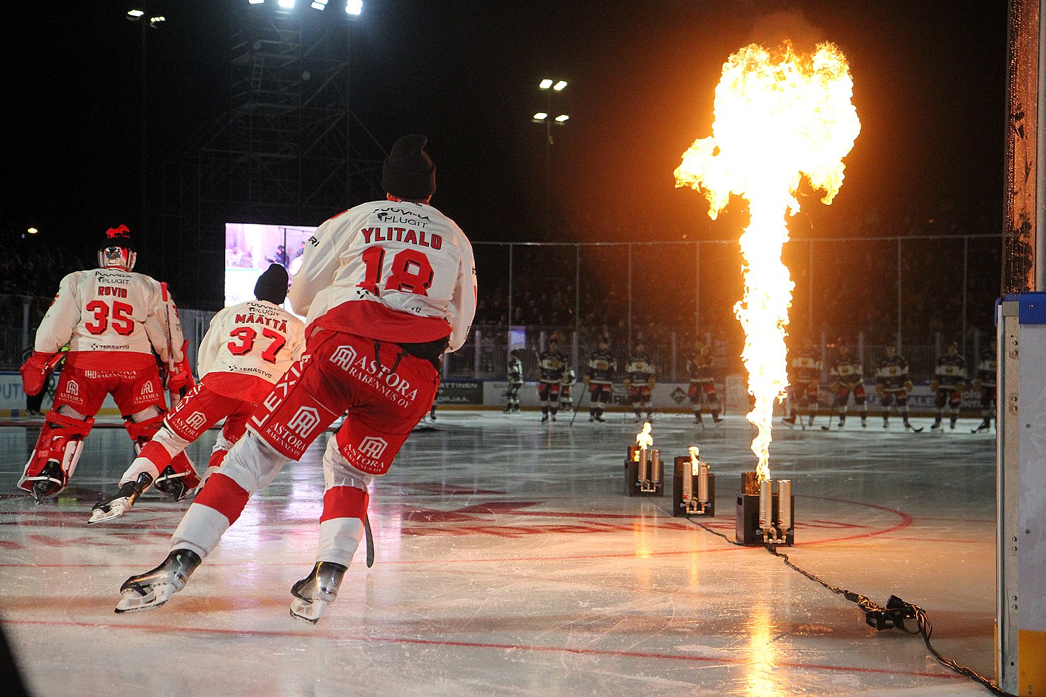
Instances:
[[[788,42],[775,51],[746,46],[723,64],[711,137],[696,140],[676,169],[676,186],[703,191],[712,219],[731,193],[748,200],[745,296],[733,309],[745,329],[741,355],[755,397],[748,420],[758,429],[752,452],[760,481],[770,478],[773,402],[788,387],[784,328],[795,284],[781,262],[786,214],[799,211],[803,177],[825,204],[842,186],[842,158],[861,131],[852,94],[849,66],[834,44],[818,44],[813,55]]]

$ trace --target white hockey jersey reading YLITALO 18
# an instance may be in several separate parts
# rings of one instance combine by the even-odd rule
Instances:
[[[361,204],[309,239],[289,298],[309,324],[396,343],[449,336],[455,351],[476,312],[472,245],[427,204]]]

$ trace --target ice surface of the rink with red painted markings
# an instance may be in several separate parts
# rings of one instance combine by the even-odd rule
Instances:
[[[325,437],[183,591],[117,615],[120,583],[166,556],[187,502],[150,492],[89,527],[130,462],[123,429],[96,427],[72,486],[36,506],[14,486],[37,429],[0,428],[0,617],[33,694],[987,694],[761,548],[672,517],[670,486],[622,495],[631,415],[437,417],[372,486],[377,562],[361,545],[315,627],[290,618],[290,587],[314,561]],[[823,433],[822,417],[775,429],[771,471],[793,481],[793,562],[880,604],[922,605],[937,649],[991,676],[995,440],[971,435],[978,421],[915,435],[872,415]],[[215,434],[190,449],[197,463]],[[704,522],[731,539],[750,434],[738,415],[707,429],[654,421],[666,465],[700,445],[718,485]]]

